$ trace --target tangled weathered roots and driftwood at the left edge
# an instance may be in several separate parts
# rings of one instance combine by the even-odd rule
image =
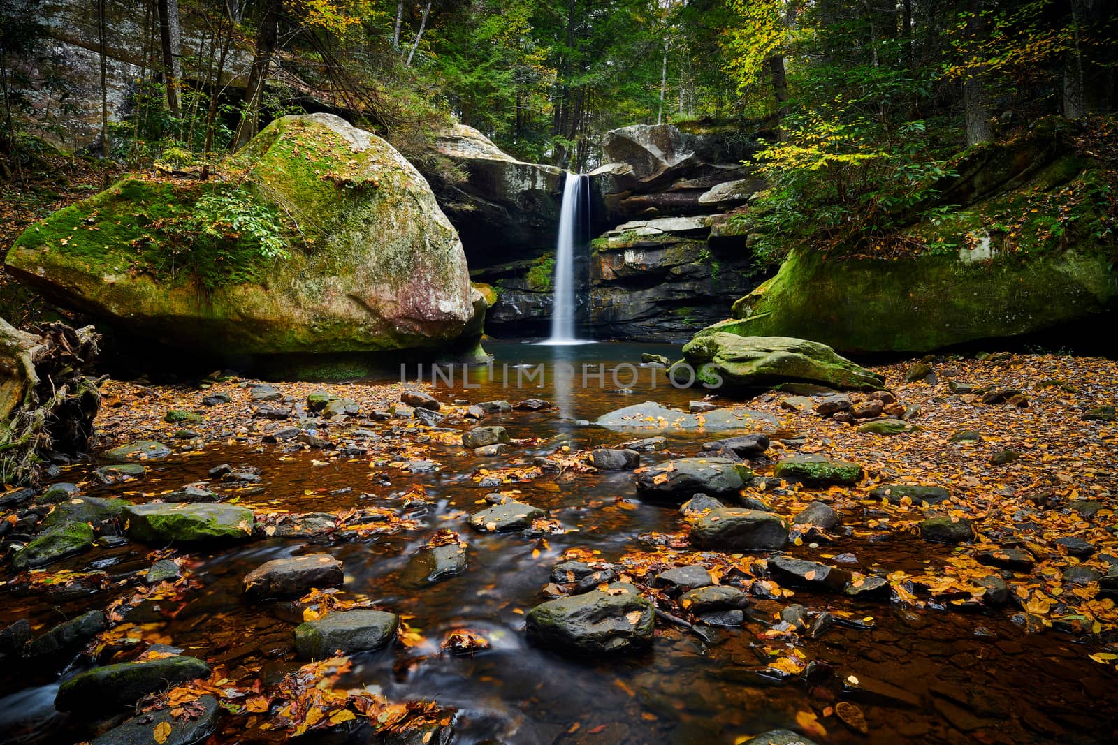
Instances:
[[[101,336],[63,323],[20,331],[0,318],[0,477],[35,485],[45,456],[75,456],[93,437],[101,405],[87,372]]]

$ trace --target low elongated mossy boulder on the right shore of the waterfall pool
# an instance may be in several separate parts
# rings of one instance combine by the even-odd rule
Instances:
[[[683,356],[700,381],[731,390],[787,382],[858,391],[882,388],[881,375],[840,356],[826,344],[790,336],[739,336],[704,329],[684,345]]]

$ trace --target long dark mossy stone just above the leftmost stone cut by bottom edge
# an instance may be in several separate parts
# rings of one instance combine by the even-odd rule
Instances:
[[[146,694],[169,686],[208,678],[209,666],[196,657],[176,655],[142,662],[119,662],[79,672],[58,688],[55,708],[59,711],[106,714],[132,706]],[[106,711],[107,709],[107,711]]]

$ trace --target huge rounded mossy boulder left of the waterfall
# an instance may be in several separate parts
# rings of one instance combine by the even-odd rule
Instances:
[[[217,354],[446,348],[480,336],[484,300],[457,233],[385,141],[329,114],[285,116],[227,170],[250,174],[259,209],[290,216],[287,258],[263,258],[252,239],[214,258],[169,238],[165,226],[230,184],[129,178],[30,228],[8,267],[124,331]]]

